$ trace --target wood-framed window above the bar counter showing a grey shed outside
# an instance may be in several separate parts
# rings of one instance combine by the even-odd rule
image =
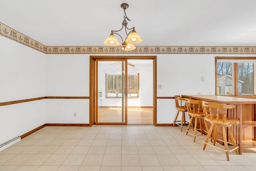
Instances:
[[[256,58],[216,57],[216,95],[256,95]]]

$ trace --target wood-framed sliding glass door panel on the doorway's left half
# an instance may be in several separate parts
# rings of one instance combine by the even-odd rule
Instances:
[[[96,125],[127,124],[127,60],[96,60]]]

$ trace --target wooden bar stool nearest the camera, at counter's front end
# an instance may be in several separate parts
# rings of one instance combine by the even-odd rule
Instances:
[[[206,140],[204,141],[203,150],[206,148],[206,145],[210,145],[212,147],[225,151],[227,160],[229,161],[229,155],[228,155],[229,152],[232,152],[235,150],[236,154],[238,154],[238,145],[236,145],[236,142],[234,140],[234,137],[231,131],[231,126],[239,124],[239,121],[236,119],[227,118],[228,109],[234,109],[235,106],[218,104],[214,102],[206,102],[206,101],[202,101],[202,106],[204,110],[204,119],[212,124],[208,131]],[[216,115],[212,115],[215,111],[216,111]],[[212,133],[212,128],[214,127],[214,125],[215,125],[215,132],[214,132],[214,138],[213,138],[214,140],[213,140],[213,144],[210,144],[208,143],[208,141],[210,139],[210,135]],[[222,127],[222,134],[223,134],[224,140],[217,138],[218,127]],[[228,135],[230,135],[230,139],[232,143],[229,143],[227,141],[226,128],[228,128]],[[225,149],[216,147],[215,146],[216,140],[224,142]],[[228,144],[233,145],[234,148],[229,150]]]

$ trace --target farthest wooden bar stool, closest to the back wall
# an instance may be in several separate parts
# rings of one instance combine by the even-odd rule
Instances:
[[[179,103],[180,101],[180,103]],[[182,106],[182,102],[184,103],[184,106]],[[184,126],[186,125],[186,123],[189,123],[188,121],[186,121],[186,118],[185,118],[185,112],[187,111],[186,109],[186,104],[185,104],[185,98],[183,97],[180,97],[178,95],[175,95],[175,106],[176,106],[176,109],[178,110],[177,114],[176,114],[176,117],[173,121],[173,127],[176,125],[179,125],[181,128],[180,128],[180,131],[182,132],[182,127],[183,127],[183,124]],[[179,113],[182,112],[182,115],[181,115],[181,121],[177,121],[177,118],[178,118],[178,115]],[[189,119],[190,119],[190,115],[188,115]],[[177,123],[177,122],[180,122],[180,123]]]

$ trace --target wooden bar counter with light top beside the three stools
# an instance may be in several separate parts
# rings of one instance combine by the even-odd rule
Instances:
[[[239,146],[239,154],[242,154],[242,148],[256,148],[256,99],[220,95],[182,95],[182,97],[235,105],[234,109],[228,110],[228,117],[240,121],[239,125],[232,126],[234,138]],[[218,138],[223,139],[222,131],[218,131]]]

